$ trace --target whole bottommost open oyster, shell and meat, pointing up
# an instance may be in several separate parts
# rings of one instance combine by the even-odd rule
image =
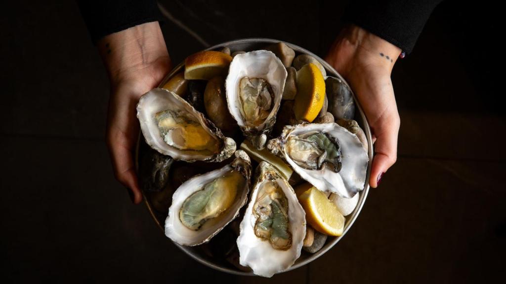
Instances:
[[[239,263],[271,277],[301,255],[306,213],[293,188],[269,163],[261,162],[251,198],[239,226]]]

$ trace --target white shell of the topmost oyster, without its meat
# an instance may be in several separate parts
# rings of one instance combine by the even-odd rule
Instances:
[[[258,126],[248,125],[240,112],[239,83],[243,77],[263,78],[272,87],[274,92],[274,106],[265,121]],[[230,63],[229,72],[225,81],[227,105],[232,117],[237,121],[246,136],[259,135],[271,131],[276,113],[281,103],[283,88],[288,72],[281,60],[270,51],[258,50],[238,54]],[[265,143],[265,141],[264,141]]]

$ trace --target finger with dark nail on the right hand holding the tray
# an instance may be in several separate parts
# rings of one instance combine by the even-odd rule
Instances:
[[[399,133],[398,119],[391,118],[375,127],[377,139],[374,145],[374,159],[369,184],[377,187],[383,175],[397,161],[397,136]]]

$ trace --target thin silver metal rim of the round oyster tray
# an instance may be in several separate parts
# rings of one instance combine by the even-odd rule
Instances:
[[[368,144],[367,145],[367,148],[368,148],[367,149],[367,156],[369,158],[369,161],[367,163],[367,171],[366,171],[364,189],[359,192],[359,200],[358,200],[355,210],[351,214],[346,216],[347,220],[345,223],[345,228],[344,228],[343,234],[341,234],[340,236],[334,236],[333,237],[334,240],[332,240],[331,242],[327,242],[327,244],[325,244],[323,246],[323,248],[321,248],[318,252],[311,254],[306,259],[299,261],[299,262],[297,262],[297,260],[296,260],[296,263],[291,265],[288,269],[276,273],[276,274],[279,274],[279,273],[291,271],[293,269],[297,269],[299,267],[302,267],[302,266],[314,261],[318,257],[325,254],[328,250],[330,250],[337,243],[339,243],[339,241],[343,238],[343,236],[348,232],[348,230],[351,228],[351,226],[353,225],[353,223],[357,219],[360,211],[362,210],[362,207],[364,206],[365,200],[366,200],[367,195],[369,193],[369,188],[370,188],[369,178],[370,178],[370,172],[371,172],[371,166],[372,166],[373,152],[372,152],[372,143],[371,143],[372,137],[371,137],[371,130],[369,127],[369,123],[367,122],[367,118],[362,110],[362,106],[360,105],[360,103],[358,102],[358,100],[355,96],[355,93],[353,92],[353,90],[350,87],[350,85],[348,84],[348,82],[343,78],[343,76],[341,76],[341,74],[339,74],[337,71],[335,71],[335,69],[330,64],[328,64],[326,61],[324,61],[323,59],[321,59],[320,57],[318,57],[314,53],[312,53],[304,48],[301,48],[300,46],[298,46],[296,44],[289,43],[284,40],[263,38],[263,37],[249,37],[249,38],[240,38],[240,39],[230,40],[230,41],[226,41],[226,42],[222,42],[222,43],[210,46],[203,51],[219,50],[219,49],[223,49],[225,47],[232,48],[234,45],[239,45],[239,44],[248,44],[248,43],[249,44],[259,44],[259,43],[268,44],[268,43],[277,43],[277,42],[285,43],[289,48],[293,49],[294,51],[296,51],[298,53],[313,56],[314,58],[316,58],[316,60],[318,60],[318,62],[320,62],[323,65],[323,67],[325,68],[325,71],[327,72],[327,77],[328,77],[328,74],[330,73],[332,75],[332,77],[337,77],[337,78],[341,79],[349,87],[349,89],[351,90],[354,102],[355,102],[355,106],[357,107],[358,112],[360,114],[361,121],[359,122],[359,125],[364,130],[364,133],[365,133],[365,136],[367,139],[367,144]],[[183,67],[184,67],[184,61],[182,61],[176,67],[174,67],[171,70],[171,72],[169,72],[163,78],[163,80],[160,82],[158,87],[163,86],[170,78],[172,78],[172,76],[179,73],[181,68],[183,68]],[[325,77],[325,79],[326,79],[326,77]],[[136,151],[135,151],[135,166],[136,166],[137,171],[139,170],[139,146],[140,146],[141,137],[142,137],[142,133],[139,131],[139,136],[138,136]],[[151,217],[153,218],[155,223],[158,225],[158,227],[165,233],[164,225],[160,224],[160,222],[156,218],[156,214],[153,212],[154,209],[152,208],[151,204],[148,202],[148,199],[147,199],[143,190],[142,190],[142,195],[143,195],[144,204],[146,205]],[[222,272],[230,273],[230,274],[235,274],[235,275],[256,276],[256,274],[254,274],[252,271],[242,271],[239,269],[234,270],[234,269],[231,269],[230,267],[225,267],[225,266],[219,265],[217,263],[213,263],[211,261],[201,258],[198,254],[191,251],[188,247],[179,245],[178,243],[173,242],[172,240],[171,240],[171,242],[173,244],[175,244],[183,252],[185,252],[187,255],[189,255],[191,258],[193,258],[194,260],[198,261],[199,263],[206,265],[210,268],[213,268],[213,269],[216,269],[216,270],[219,270]]]

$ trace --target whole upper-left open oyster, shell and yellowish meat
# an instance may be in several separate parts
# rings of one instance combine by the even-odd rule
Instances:
[[[235,141],[174,92],[154,88],[137,105],[146,143],[175,160],[223,161],[234,153]]]

